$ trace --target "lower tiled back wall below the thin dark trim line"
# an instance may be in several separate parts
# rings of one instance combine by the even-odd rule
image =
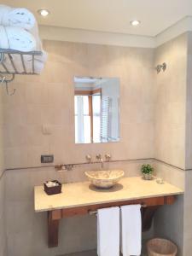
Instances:
[[[140,174],[143,161],[110,164],[109,168],[121,168],[126,176]],[[149,161],[150,163],[150,161]],[[47,246],[47,214],[34,212],[33,187],[45,179],[59,179],[62,183],[84,180],[84,171],[94,166],[79,166],[70,172],[55,172],[54,168],[24,169],[6,172],[6,216],[9,256],[55,256],[96,248],[96,217],[64,218],[60,223],[59,247]],[[10,189],[12,183],[15,186]],[[77,195],[78,196],[78,195]],[[13,214],[14,212],[14,214]],[[151,230],[153,232],[153,229]],[[152,233],[153,234],[153,233]],[[148,238],[151,233],[143,234]]]

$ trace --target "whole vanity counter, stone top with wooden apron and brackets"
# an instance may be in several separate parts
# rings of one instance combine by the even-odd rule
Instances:
[[[172,205],[176,195],[183,194],[169,183],[144,181],[141,177],[125,177],[113,189],[99,190],[90,183],[67,183],[62,193],[46,195],[43,186],[35,187],[35,211],[48,214],[48,247],[57,247],[61,218],[89,214],[107,207],[141,204],[143,230],[151,226],[154,212],[163,205]]]

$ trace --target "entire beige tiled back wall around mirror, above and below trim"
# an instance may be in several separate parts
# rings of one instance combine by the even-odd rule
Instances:
[[[9,256],[55,256],[96,247],[96,218],[85,216],[63,219],[60,246],[49,249],[46,213],[34,213],[33,187],[54,177],[62,182],[84,180],[85,168],[99,166],[61,174],[54,168],[21,170],[21,166],[40,166],[41,154],[54,154],[55,164],[84,162],[86,154],[96,153],[110,153],[113,160],[154,157],[154,49],[53,41],[44,41],[44,48],[49,53],[44,73],[17,77],[12,84],[15,96],[3,96],[6,166],[19,167],[6,172]],[[120,143],[74,144],[74,75],[119,77]],[[42,125],[49,125],[51,135],[43,135]],[[109,167],[136,176],[142,163]]]

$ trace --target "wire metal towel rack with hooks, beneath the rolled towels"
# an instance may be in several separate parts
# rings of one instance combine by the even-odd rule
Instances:
[[[17,64],[15,63],[14,56],[17,55],[17,61],[20,60],[22,70],[18,71]],[[32,67],[27,71],[25,64],[25,55],[32,55]],[[13,92],[9,92],[9,83],[15,79],[16,74],[20,75],[34,75],[38,74],[35,72],[35,56],[43,55],[42,51],[30,51],[22,52],[15,49],[1,49],[0,48],[0,84],[5,84],[6,91],[9,96],[15,94],[15,89]],[[9,62],[7,62],[7,60]]]

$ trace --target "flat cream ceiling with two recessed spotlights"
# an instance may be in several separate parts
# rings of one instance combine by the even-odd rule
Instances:
[[[1,3],[32,10],[40,25],[149,37],[192,15],[192,0],[2,0]],[[40,17],[38,9],[49,9],[50,15]],[[134,19],[142,24],[131,26],[130,20]]]

